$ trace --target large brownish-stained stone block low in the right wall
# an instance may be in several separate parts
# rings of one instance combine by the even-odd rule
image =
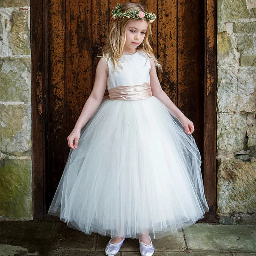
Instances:
[[[256,209],[256,163],[218,160],[217,212],[254,213]]]

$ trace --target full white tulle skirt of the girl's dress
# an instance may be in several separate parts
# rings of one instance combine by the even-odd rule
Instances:
[[[109,100],[81,130],[48,213],[87,235],[161,238],[209,211],[193,136],[156,97]]]

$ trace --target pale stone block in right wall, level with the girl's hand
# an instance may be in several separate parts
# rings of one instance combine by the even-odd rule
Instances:
[[[217,154],[229,155],[244,148],[246,114],[218,113],[217,115]]]

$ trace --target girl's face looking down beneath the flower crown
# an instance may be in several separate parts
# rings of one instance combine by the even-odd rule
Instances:
[[[126,41],[124,51],[133,53],[134,50],[143,42],[148,28],[147,20],[131,19],[125,26]]]

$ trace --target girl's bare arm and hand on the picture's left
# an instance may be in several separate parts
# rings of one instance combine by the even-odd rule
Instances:
[[[108,64],[102,57],[96,68],[95,81],[92,92],[84,104],[84,108],[76,121],[73,131],[68,135],[68,146],[76,149],[81,129],[90,120],[102,102],[107,87]],[[74,142],[73,142],[74,141]]]

